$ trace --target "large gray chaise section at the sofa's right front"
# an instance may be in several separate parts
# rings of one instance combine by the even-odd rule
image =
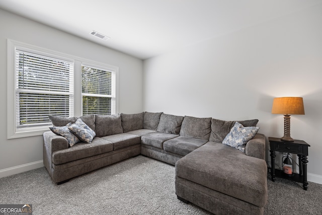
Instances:
[[[250,141],[262,138],[257,134]],[[209,141],[176,163],[175,185],[179,199],[215,214],[263,214],[267,166],[263,159]]]

